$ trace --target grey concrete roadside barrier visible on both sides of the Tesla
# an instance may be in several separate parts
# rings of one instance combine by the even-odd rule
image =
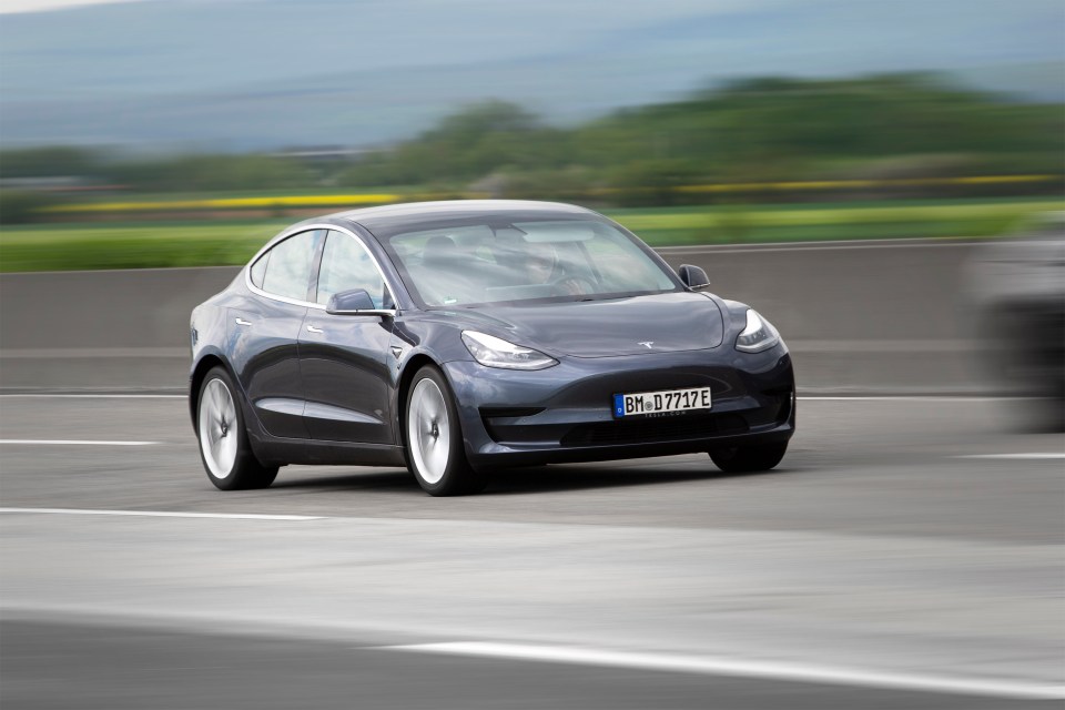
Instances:
[[[961,267],[973,246],[663,248],[781,331],[805,393],[980,393]],[[0,388],[184,390],[189,314],[235,267],[0,275]]]

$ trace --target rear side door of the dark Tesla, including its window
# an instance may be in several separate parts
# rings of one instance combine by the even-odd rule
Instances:
[[[300,328],[324,230],[300,232],[252,265],[250,293],[229,310],[233,365],[255,414],[273,436],[310,438],[300,376]]]

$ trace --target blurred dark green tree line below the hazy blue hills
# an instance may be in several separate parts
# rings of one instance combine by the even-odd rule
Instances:
[[[1011,101],[922,74],[736,81],[574,126],[486,101],[397,145],[332,160],[0,151],[4,184],[77,176],[83,186],[131,193],[389,187],[663,205],[722,199],[679,190],[688,185],[1004,174],[1065,174],[1065,106]],[[1037,189],[1059,192],[1061,183]],[[19,191],[3,190],[9,202],[12,192]],[[778,190],[728,199],[780,197]]]

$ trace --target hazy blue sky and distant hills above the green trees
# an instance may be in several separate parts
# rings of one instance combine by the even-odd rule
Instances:
[[[484,99],[565,122],[763,75],[935,71],[1027,98],[1065,92],[1063,0],[4,0],[0,11],[7,142],[348,142],[341,128],[354,126],[353,140],[374,143]],[[304,123],[314,135],[296,133],[293,101],[317,112]]]

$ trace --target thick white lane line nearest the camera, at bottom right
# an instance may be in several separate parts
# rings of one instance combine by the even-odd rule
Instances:
[[[826,683],[832,686],[862,686],[926,692],[946,692],[1002,698],[1057,700],[1065,698],[1065,686],[1034,681],[952,678],[879,671],[863,668],[814,666],[779,661],[740,660],[712,656],[648,653],[613,651],[561,646],[496,643],[487,641],[456,641],[379,647],[387,650],[452,656],[479,656],[550,663],[609,666],[680,673],[762,678],[783,681]]]

